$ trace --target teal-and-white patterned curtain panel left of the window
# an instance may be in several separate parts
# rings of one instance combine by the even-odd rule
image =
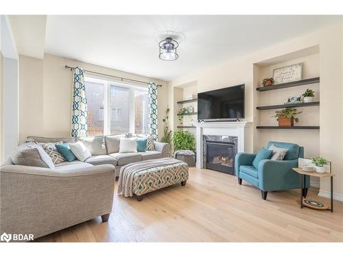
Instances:
[[[71,136],[87,136],[87,99],[84,86],[84,70],[75,67],[73,71],[73,112],[71,116]]]

